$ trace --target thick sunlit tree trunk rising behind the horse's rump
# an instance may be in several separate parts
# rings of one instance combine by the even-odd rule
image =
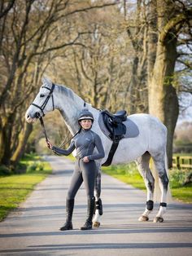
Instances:
[[[149,113],[159,117],[168,128],[168,167],[172,166],[172,140],[177,118],[179,105],[177,93],[172,86],[175,63],[177,60],[177,37],[174,28],[166,31],[162,40],[162,33],[165,33],[164,26],[168,20],[164,7],[161,7],[161,15],[158,18],[159,39],[155,65],[151,79],[149,79]],[[164,13],[164,15],[162,15]],[[168,13],[167,13],[168,15]]]

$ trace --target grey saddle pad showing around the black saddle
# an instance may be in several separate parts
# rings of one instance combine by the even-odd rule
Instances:
[[[127,117],[126,121],[123,121],[124,126],[126,126],[126,133],[124,135],[124,138],[134,138],[139,135],[139,130],[137,125]],[[105,126],[103,122],[103,115],[99,113],[98,116],[98,125],[100,126],[100,129],[103,131],[103,134],[106,135],[109,139],[110,132],[107,130],[107,127]]]

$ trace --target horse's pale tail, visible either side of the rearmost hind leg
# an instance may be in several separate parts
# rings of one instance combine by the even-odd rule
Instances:
[[[167,152],[166,151],[165,151],[165,154],[164,154],[164,164],[165,164],[166,173],[168,175],[168,158],[167,158]],[[159,202],[159,201],[161,201],[162,192],[161,192],[160,187],[159,187],[159,175],[158,175],[158,171],[155,168],[154,161],[152,162],[152,165],[151,165],[151,172],[152,172],[153,177],[155,179],[154,201]],[[171,190],[169,188],[169,184],[168,184],[167,202],[172,202],[172,195],[171,195]]]

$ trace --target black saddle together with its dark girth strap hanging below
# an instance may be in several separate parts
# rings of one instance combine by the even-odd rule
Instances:
[[[101,114],[103,116],[103,123],[110,133],[109,137],[113,141],[107,161],[105,161],[102,166],[110,166],[120,139],[123,139],[126,134],[126,126],[124,126],[123,121],[127,120],[127,112],[120,110],[115,114],[111,114],[107,110],[103,110]]]

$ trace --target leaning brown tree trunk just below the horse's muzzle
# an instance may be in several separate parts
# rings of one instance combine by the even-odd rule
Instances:
[[[33,125],[28,124],[26,121],[24,122],[24,129],[20,133],[19,143],[13,156],[11,157],[11,167],[15,168],[15,166],[20,161],[20,158],[24,155],[25,145],[27,143],[28,137],[33,130]]]

